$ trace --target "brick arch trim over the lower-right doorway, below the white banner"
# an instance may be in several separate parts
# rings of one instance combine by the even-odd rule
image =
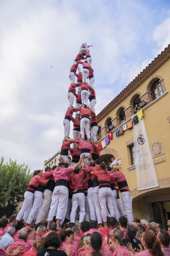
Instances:
[[[141,197],[148,195],[149,193],[152,193],[154,190],[163,190],[166,188],[170,188],[170,177],[161,178],[158,180],[158,183],[159,183],[159,187],[156,187],[156,188],[149,188],[145,190],[138,190],[138,188],[135,188],[131,190],[131,197],[133,199],[133,202],[136,202]]]

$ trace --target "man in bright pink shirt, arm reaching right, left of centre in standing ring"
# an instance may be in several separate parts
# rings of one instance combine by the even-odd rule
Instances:
[[[78,164],[75,164],[71,168],[65,168],[64,162],[60,162],[58,164],[58,169],[55,169],[53,173],[55,188],[53,191],[51,207],[47,220],[49,224],[53,220],[53,216],[55,216],[57,212],[57,229],[60,229],[60,221],[62,221],[65,218],[67,212],[65,211],[65,205],[68,204],[69,198],[69,190],[67,187],[68,174],[71,174],[71,172],[73,172],[76,169]]]

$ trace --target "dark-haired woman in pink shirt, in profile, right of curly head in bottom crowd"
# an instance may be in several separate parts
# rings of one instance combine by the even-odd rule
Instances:
[[[71,256],[77,256],[76,247],[72,244],[73,237],[74,237],[73,231],[72,230],[61,230],[59,235],[62,240],[62,246],[60,249],[65,251],[66,250],[65,247],[69,246],[69,247],[73,248],[71,250]]]

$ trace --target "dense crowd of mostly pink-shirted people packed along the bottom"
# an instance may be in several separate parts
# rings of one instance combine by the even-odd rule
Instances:
[[[55,220],[55,218],[54,218]],[[107,227],[96,221],[75,223],[65,219],[57,223],[41,220],[34,228],[16,216],[0,219],[0,256],[170,256],[170,220],[168,232],[154,219],[134,218],[128,225],[122,216],[107,217]]]

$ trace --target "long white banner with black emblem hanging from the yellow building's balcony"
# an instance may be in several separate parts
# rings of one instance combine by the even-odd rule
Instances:
[[[132,120],[135,115],[132,116]],[[144,118],[133,123],[135,167],[138,190],[159,187],[152,153],[149,147]]]

